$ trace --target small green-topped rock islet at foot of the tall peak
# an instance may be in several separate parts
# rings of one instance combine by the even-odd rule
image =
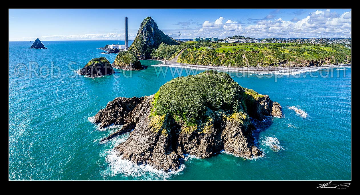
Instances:
[[[148,67],[141,65],[139,59],[131,51],[120,51],[112,65],[114,68],[123,70],[143,70]]]

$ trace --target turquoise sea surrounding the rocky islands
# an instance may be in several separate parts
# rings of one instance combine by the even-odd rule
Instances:
[[[94,57],[104,56],[113,62],[116,54],[101,54],[96,48],[117,41],[43,43],[48,49],[30,49],[32,42],[9,42],[10,180],[351,179],[351,68],[334,71],[334,78],[311,78],[310,72],[299,73],[300,78],[278,78],[277,82],[274,77],[235,77],[241,86],[270,95],[283,106],[284,117],[257,123],[255,136],[265,157],[244,160],[227,153],[209,159],[189,156],[179,172],[164,173],[114,157],[111,149],[128,134],[100,144],[121,126],[100,130],[91,117],[115,97],[154,94],[172,78],[175,68],[168,68],[167,74],[159,77],[160,67],[149,66],[133,71],[130,78],[129,71],[121,70],[107,77],[85,78],[76,70]],[[31,77],[29,62],[39,65]],[[55,69],[54,77],[46,76],[52,62],[60,71]],[[311,74],[325,75],[324,71]],[[36,73],[45,77],[36,77]],[[289,106],[304,110],[307,117],[297,115]],[[276,139],[283,148],[278,152],[267,146],[267,140]]]

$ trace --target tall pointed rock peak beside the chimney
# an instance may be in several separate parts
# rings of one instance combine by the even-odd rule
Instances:
[[[179,44],[159,30],[156,22],[151,17],[147,17],[141,22],[138,34],[136,34],[134,43],[131,44],[129,50],[134,52],[139,59],[148,60],[152,59],[151,52],[157,49],[161,43],[167,45]]]

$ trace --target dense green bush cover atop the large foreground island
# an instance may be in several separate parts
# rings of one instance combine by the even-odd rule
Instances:
[[[201,125],[211,120],[211,110],[244,114],[245,101],[259,97],[262,95],[241,87],[229,74],[210,70],[177,77],[161,86],[154,95],[152,116],[170,114],[187,126]]]

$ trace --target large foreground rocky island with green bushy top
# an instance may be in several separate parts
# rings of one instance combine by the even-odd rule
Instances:
[[[171,171],[186,154],[207,158],[225,150],[247,159],[262,156],[250,117],[281,115],[280,104],[269,96],[239,86],[226,73],[205,71],[172,79],[151,96],[116,98],[95,122],[123,124],[103,140],[133,130],[115,147],[122,159]]]

